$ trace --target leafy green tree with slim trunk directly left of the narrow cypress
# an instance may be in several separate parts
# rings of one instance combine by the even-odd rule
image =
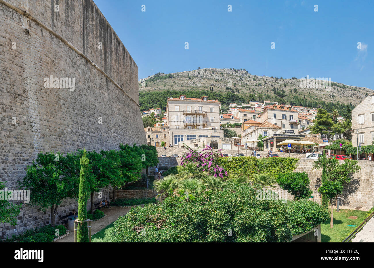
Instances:
[[[20,188],[30,189],[30,204],[40,206],[45,211],[50,207],[51,225],[55,226],[55,216],[64,198],[74,198],[77,194],[75,177],[64,175],[61,153],[39,153],[36,161],[27,166],[27,173]]]

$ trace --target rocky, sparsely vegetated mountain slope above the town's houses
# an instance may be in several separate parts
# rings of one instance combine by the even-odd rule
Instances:
[[[310,78],[311,83],[313,80],[314,78]],[[331,85],[330,89],[306,88],[301,86],[300,77],[256,76],[246,70],[202,68],[181,73],[155,74],[142,79],[139,82],[139,90],[140,93],[208,90],[222,95],[233,93],[242,97],[245,102],[269,100],[305,106],[321,106],[321,101],[356,106],[373,92],[368,88],[347,86],[334,81]]]

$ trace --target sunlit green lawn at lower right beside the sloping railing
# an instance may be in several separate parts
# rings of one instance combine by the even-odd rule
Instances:
[[[366,211],[334,209],[334,227],[330,228],[330,218],[321,224],[321,242],[341,242],[349,232],[353,232],[364,220]],[[330,215],[331,216],[331,215]],[[348,219],[349,216],[358,216],[357,219]],[[356,225],[350,227],[348,225]]]

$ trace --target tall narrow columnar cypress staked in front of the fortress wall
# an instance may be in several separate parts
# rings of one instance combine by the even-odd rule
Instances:
[[[86,157],[86,150],[83,151],[83,157],[80,158],[80,174],[79,174],[79,200],[78,200],[78,219],[85,221],[87,219],[87,198],[88,198],[88,163]],[[88,228],[87,222],[78,222],[77,227],[77,242],[88,242]]]

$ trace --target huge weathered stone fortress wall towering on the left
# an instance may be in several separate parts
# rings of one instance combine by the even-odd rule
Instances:
[[[0,180],[9,190],[39,152],[147,142],[138,67],[92,0],[0,0],[0,73]],[[74,90],[46,88],[50,76],[74,78]],[[58,216],[72,208],[77,200],[65,200]],[[0,224],[0,238],[49,219],[50,210],[23,204],[15,227]]]

